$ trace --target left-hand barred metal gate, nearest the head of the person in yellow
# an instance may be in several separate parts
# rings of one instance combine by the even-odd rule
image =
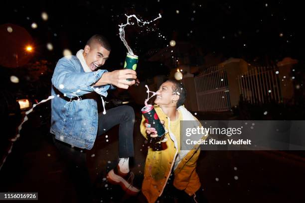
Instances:
[[[223,66],[212,66],[194,78],[198,111],[231,109],[227,73]]]

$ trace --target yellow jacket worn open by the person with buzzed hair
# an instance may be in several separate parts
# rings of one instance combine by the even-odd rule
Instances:
[[[192,196],[199,188],[199,177],[196,173],[196,162],[200,153],[199,145],[193,147],[193,150],[184,151],[180,150],[179,156],[176,149],[176,140],[169,128],[169,118],[164,114],[162,109],[154,105],[154,109],[158,114],[160,120],[164,120],[164,126],[168,133],[165,134],[167,141],[162,143],[162,150],[154,151],[149,148],[148,155],[145,163],[144,180],[142,184],[142,193],[145,195],[149,203],[154,203],[165,188],[170,173],[174,167],[174,181],[173,185],[178,190],[184,190],[189,196]],[[180,106],[178,108],[179,113],[182,113],[182,119],[197,120],[189,111]],[[191,117],[191,118],[190,118]],[[198,120],[197,120],[198,121]],[[148,135],[145,130],[145,118],[142,115],[141,133],[148,139]],[[198,121],[198,125],[200,123]],[[206,139],[203,138],[203,139]],[[184,152],[184,154],[183,154]],[[181,156],[182,155],[182,156]]]

